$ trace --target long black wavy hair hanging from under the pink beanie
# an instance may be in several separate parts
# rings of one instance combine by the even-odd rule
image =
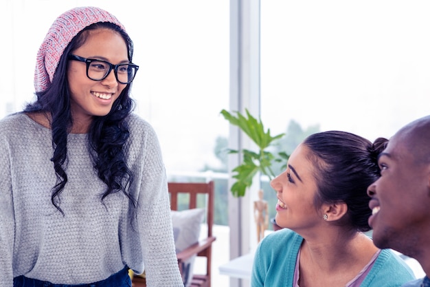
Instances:
[[[36,92],[34,103],[28,104],[24,109],[25,112],[43,112],[51,118],[52,147],[54,148],[51,161],[54,163],[57,176],[57,182],[52,189],[51,201],[61,213],[63,211],[60,209],[59,195],[67,184],[67,134],[73,125],[67,80],[67,56],[87,41],[90,30],[100,28],[113,30],[122,36],[127,45],[128,60],[132,63],[133,41],[124,30],[109,22],[89,25],[67,45],[58,63],[52,84],[45,91]],[[128,187],[133,181],[133,173],[127,167],[123,149],[129,136],[126,118],[135,107],[133,99],[130,97],[130,91],[131,83],[122,90],[109,114],[93,118],[88,132],[88,150],[98,177],[107,186],[102,195],[102,202],[109,194],[122,191],[136,207],[136,201],[128,191]]]

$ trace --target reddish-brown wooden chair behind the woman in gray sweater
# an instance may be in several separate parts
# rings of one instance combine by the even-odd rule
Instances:
[[[205,274],[194,273],[192,277],[192,287],[210,287],[211,286],[211,264],[212,264],[212,243],[216,237],[212,235],[212,225],[214,224],[214,182],[168,182],[168,190],[170,193],[170,209],[173,211],[179,210],[179,197],[188,198],[188,204],[185,209],[203,208],[197,206],[198,195],[204,197],[207,224],[207,237],[199,240],[196,244],[186,248],[185,250],[177,253],[179,269],[181,273],[182,262],[190,259],[193,255],[198,257],[205,257],[206,271]],[[181,194],[184,194],[182,196]],[[181,202],[183,203],[183,202]],[[183,210],[181,206],[181,210]],[[146,286],[145,281],[141,277],[133,277],[133,287]]]

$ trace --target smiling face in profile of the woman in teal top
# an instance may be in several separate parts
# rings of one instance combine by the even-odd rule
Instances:
[[[299,145],[288,159],[286,171],[271,181],[278,195],[276,223],[298,233],[322,218],[314,205],[317,183],[309,152],[308,147]]]

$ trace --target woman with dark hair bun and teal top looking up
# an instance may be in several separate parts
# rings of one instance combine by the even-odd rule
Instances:
[[[344,131],[308,136],[271,181],[276,223],[258,245],[251,286],[383,287],[414,278],[403,259],[374,246],[367,187],[379,176],[374,143]]]

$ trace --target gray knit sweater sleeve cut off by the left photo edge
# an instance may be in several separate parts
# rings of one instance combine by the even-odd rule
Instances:
[[[8,143],[0,138],[0,287],[13,286],[14,206]]]

